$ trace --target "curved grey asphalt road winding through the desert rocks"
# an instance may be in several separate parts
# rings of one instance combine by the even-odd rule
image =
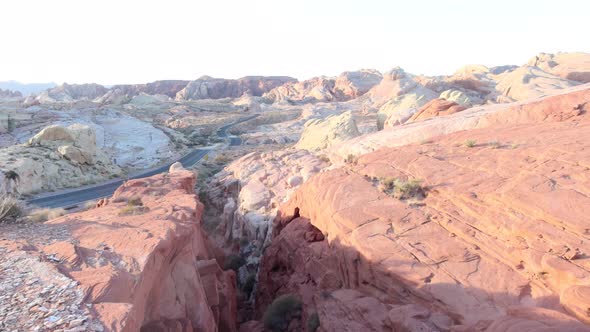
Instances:
[[[227,134],[227,129],[238,123],[251,120],[257,116],[258,115],[252,115],[247,118],[240,119],[236,122],[227,124],[219,128],[219,130],[217,131],[217,136],[229,138],[229,145],[231,146],[240,145],[242,142],[241,139],[239,137],[229,136]],[[182,166],[184,166],[185,168],[191,167],[194,164],[196,164],[199,160],[201,160],[203,157],[205,157],[205,155],[208,152],[210,152],[211,149],[212,148],[196,149],[178,160],[174,160],[158,168],[154,168],[142,173],[135,174],[133,176],[130,176],[129,179],[145,178],[167,172],[170,168],[170,165],[174,164],[177,161],[180,162]],[[123,184],[123,182],[125,182],[125,179],[118,179],[108,181],[104,184],[95,185],[92,187],[67,190],[57,194],[41,195],[28,200],[27,203],[42,208],[73,208],[84,202],[111,196],[115,192],[115,190],[117,190],[117,188],[119,188]]]

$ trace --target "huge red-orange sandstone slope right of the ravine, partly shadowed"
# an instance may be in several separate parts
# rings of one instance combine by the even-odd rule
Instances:
[[[590,330],[588,93],[312,177],[279,209],[258,314],[291,293],[293,330],[314,312],[320,331]],[[421,179],[426,197],[383,178]]]

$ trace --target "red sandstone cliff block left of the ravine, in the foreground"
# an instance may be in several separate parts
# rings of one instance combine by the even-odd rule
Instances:
[[[195,181],[192,172],[178,168],[131,180],[100,208],[32,225],[24,236],[4,232],[2,266],[15,255],[31,257],[47,266],[29,270],[31,278],[41,279],[37,284],[65,279],[71,286],[64,289],[81,295],[66,302],[68,307],[53,304],[58,300],[53,297],[41,301],[37,308],[49,306],[44,310],[51,309],[54,317],[41,326],[237,331],[235,274],[220,268],[201,227],[203,205],[194,193]],[[70,310],[87,314],[73,324],[67,318]],[[12,318],[32,330],[36,319],[30,312]]]

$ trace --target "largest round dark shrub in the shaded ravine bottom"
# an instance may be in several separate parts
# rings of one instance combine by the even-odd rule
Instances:
[[[301,315],[301,301],[291,294],[277,297],[262,316],[264,327],[271,331],[286,331],[293,318]]]

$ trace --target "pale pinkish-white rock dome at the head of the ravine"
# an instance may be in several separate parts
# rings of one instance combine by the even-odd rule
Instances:
[[[261,250],[271,238],[278,207],[303,182],[328,166],[305,150],[250,153],[218,173],[207,190],[221,211],[219,243],[246,238]]]

